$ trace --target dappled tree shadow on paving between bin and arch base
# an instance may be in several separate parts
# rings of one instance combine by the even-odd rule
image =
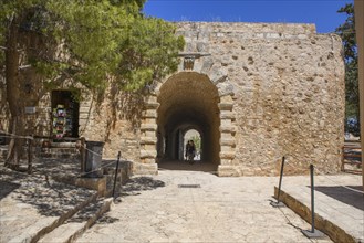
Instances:
[[[165,182],[155,180],[152,177],[136,177],[126,181],[121,196],[135,196],[139,194],[139,191],[154,190],[165,186]]]

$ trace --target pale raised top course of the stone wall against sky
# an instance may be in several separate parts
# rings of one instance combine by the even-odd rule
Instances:
[[[259,32],[259,33],[291,33],[316,34],[314,23],[253,23],[253,22],[173,22],[178,31],[209,31],[209,32]]]

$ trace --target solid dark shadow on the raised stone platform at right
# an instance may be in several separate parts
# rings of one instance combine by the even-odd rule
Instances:
[[[319,187],[314,187],[314,189],[345,204],[352,205],[356,209],[364,211],[364,197],[363,197],[362,187],[360,186],[346,186],[346,187],[347,188],[319,186]],[[349,188],[352,188],[357,191],[350,190]]]

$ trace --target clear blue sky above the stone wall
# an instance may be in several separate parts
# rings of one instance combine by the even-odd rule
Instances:
[[[147,15],[167,21],[314,23],[333,32],[346,15],[337,13],[353,0],[148,0]]]

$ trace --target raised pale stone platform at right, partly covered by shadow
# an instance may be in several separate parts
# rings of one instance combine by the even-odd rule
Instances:
[[[364,242],[364,193],[358,175],[315,176],[314,210],[323,220]],[[282,190],[311,209],[310,178],[284,177]],[[351,190],[352,189],[352,190]]]

